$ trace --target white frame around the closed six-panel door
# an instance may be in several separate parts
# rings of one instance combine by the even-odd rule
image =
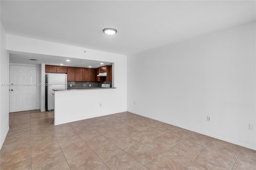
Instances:
[[[35,65],[35,64],[19,64],[19,63],[10,63],[9,64],[9,71],[11,70],[11,65],[18,65],[18,66],[32,66],[32,67],[36,67],[36,83],[38,83],[39,82],[39,74],[38,74],[38,67],[39,67],[39,65]],[[9,76],[11,76],[11,75],[9,75]],[[10,77],[9,77],[9,83],[10,83]],[[39,95],[38,94],[40,94],[40,88],[39,88],[39,86],[36,86],[36,107],[37,107],[37,109],[40,109],[39,108],[39,101],[40,101],[40,99],[39,99]],[[10,110],[10,107],[11,107],[11,104],[10,104],[10,101],[11,100],[11,97],[10,97],[10,87],[9,87],[9,110]]]

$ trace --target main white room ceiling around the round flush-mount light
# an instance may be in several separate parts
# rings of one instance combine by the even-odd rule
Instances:
[[[256,2],[245,0],[0,3],[7,34],[124,55],[256,20]]]

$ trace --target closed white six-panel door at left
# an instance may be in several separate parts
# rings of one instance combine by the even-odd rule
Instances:
[[[10,65],[10,112],[37,109],[37,67]]]

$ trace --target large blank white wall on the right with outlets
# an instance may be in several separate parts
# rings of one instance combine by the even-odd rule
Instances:
[[[255,36],[253,22],[128,55],[128,111],[256,150]]]

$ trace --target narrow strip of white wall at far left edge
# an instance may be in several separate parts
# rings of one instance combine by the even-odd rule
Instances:
[[[0,84],[9,83],[9,53],[6,51],[6,32],[1,22]],[[0,86],[0,148],[9,130],[9,87]]]

